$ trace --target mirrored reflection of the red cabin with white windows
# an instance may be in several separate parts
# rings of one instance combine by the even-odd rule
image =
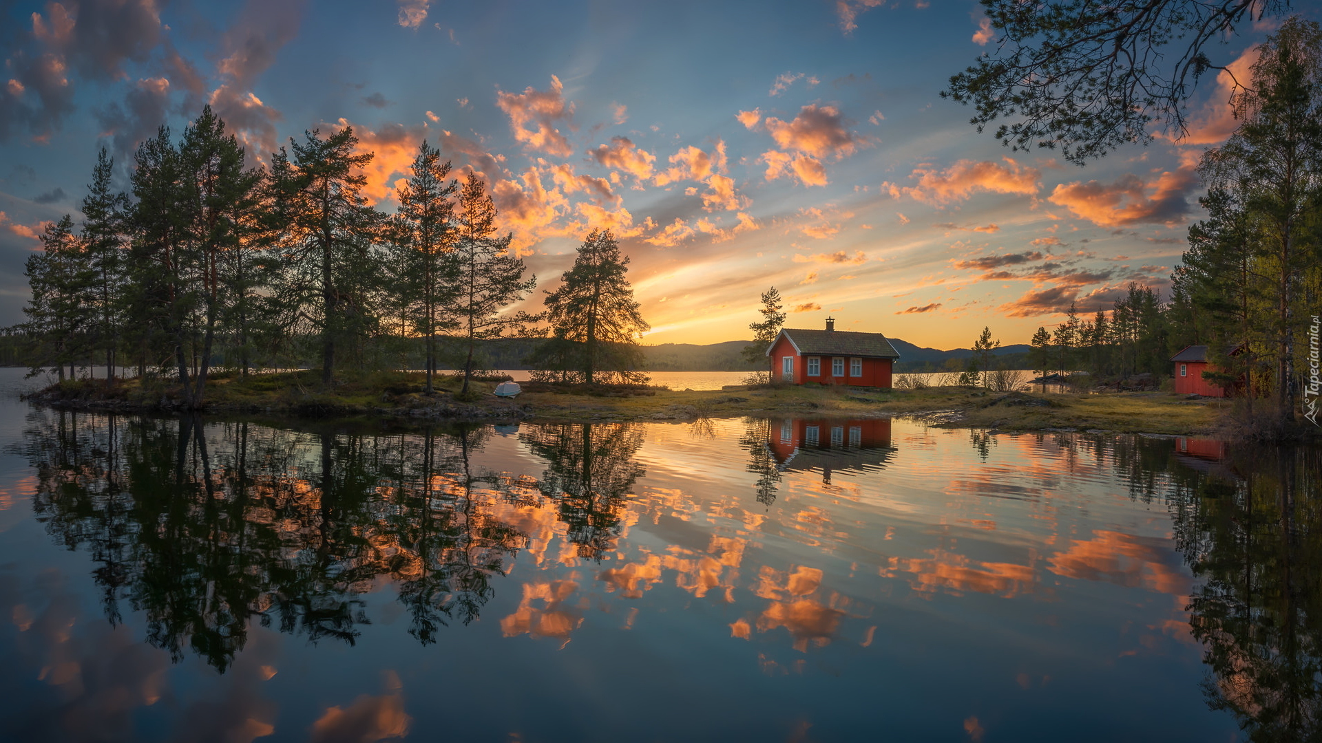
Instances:
[[[821,469],[828,483],[832,471],[886,467],[895,453],[890,418],[772,419],[767,448],[776,457],[779,469]]]

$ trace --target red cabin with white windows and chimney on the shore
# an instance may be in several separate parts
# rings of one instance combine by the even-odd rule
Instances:
[[[882,333],[783,328],[767,348],[772,375],[795,385],[853,385],[890,387],[891,368],[900,357]]]

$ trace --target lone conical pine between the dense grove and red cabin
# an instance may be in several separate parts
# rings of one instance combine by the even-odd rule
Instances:
[[[530,360],[539,369],[574,370],[592,385],[623,379],[641,382],[639,337],[650,327],[639,313],[625,274],[629,259],[609,230],[594,230],[579,246],[563,284],[546,297],[553,337]]]

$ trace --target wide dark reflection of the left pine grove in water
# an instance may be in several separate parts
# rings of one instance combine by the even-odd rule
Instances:
[[[153,645],[223,672],[253,620],[352,644],[381,576],[423,643],[475,619],[526,541],[485,508],[514,497],[471,461],[486,435],[38,412],[22,451],[38,518],[90,551],[107,619],[127,600]]]

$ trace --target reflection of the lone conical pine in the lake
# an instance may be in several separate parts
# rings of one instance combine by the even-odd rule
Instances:
[[[615,549],[620,514],[635,480],[645,471],[633,461],[642,446],[637,423],[563,423],[518,435],[547,461],[539,485],[559,506],[579,557],[600,559]]]

